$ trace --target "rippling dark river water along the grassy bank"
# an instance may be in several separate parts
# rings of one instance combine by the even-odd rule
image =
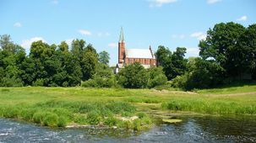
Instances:
[[[177,124],[159,124],[132,132],[110,129],[51,129],[0,119],[0,142],[256,142],[256,117],[179,117]]]

